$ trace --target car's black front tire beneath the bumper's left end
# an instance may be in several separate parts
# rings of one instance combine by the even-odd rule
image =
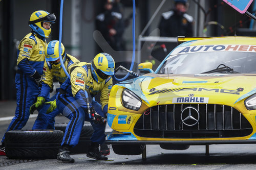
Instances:
[[[118,155],[140,155],[145,144],[112,144],[112,149]]]

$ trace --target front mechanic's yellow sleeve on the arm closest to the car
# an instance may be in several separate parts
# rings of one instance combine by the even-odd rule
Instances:
[[[103,110],[104,106],[109,103],[110,90],[112,88],[113,81],[112,77],[105,80],[105,85],[101,90],[100,94],[100,103],[101,109]]]

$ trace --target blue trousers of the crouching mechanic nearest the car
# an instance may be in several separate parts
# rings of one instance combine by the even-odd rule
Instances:
[[[78,143],[85,120],[91,122],[91,125],[94,129],[91,141],[97,142],[98,144],[103,143],[106,137],[104,134],[105,126],[103,124],[95,124],[92,122],[92,120],[89,118],[89,114],[79,106],[73,96],[66,96],[65,94],[60,94],[58,92],[56,102],[59,111],[70,119],[61,146],[63,144],[68,144],[74,147]],[[94,106],[95,111],[104,117],[100,104],[98,102],[93,102],[92,105]]]

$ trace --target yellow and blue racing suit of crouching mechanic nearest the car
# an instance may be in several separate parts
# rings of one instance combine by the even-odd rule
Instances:
[[[101,105],[96,101],[93,101],[91,105],[99,115],[104,117],[108,111],[112,77],[98,83],[94,80],[91,71],[91,63],[74,64],[70,69],[70,79],[62,83],[57,93],[57,108],[70,119],[61,146],[67,144],[74,147],[78,143],[84,120],[91,122],[94,129],[92,142],[101,144],[105,140],[104,125],[95,124],[89,118],[85,91],[88,91],[88,95],[92,97],[100,92]]]

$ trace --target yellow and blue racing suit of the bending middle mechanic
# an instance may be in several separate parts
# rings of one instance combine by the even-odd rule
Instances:
[[[64,66],[66,70],[69,69],[70,66],[74,63],[78,63],[79,60],[75,57],[67,54],[64,61]],[[62,84],[65,82],[65,80],[68,78],[65,71],[62,67],[59,69],[54,68],[52,64],[50,64],[48,61],[45,61],[44,64],[44,74],[42,75],[42,87],[40,94],[38,96],[41,96],[46,99],[47,102],[54,101],[56,99],[56,94],[52,96],[51,99],[48,100],[48,95],[50,93],[51,88],[53,88],[53,79],[56,79],[59,84]],[[32,129],[54,129],[54,117],[57,116],[60,112],[56,108],[51,113],[46,114],[47,109],[50,107],[50,105],[44,104],[42,108],[39,108],[38,116],[35,120],[35,123],[33,125]]]

